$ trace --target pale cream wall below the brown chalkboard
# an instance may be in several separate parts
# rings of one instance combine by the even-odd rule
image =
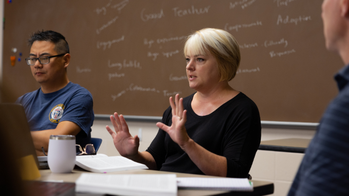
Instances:
[[[140,128],[142,129],[140,151],[145,151],[158,133],[158,127],[155,124],[155,122],[128,122],[132,136],[138,134]],[[112,127],[110,121],[96,120],[92,127],[92,137],[103,139],[98,153],[107,154],[108,156],[119,155],[110,134],[105,128],[106,125]],[[314,134],[315,131],[313,130],[262,128],[261,140],[286,138],[311,139]],[[273,196],[286,196],[303,155],[301,153],[257,151],[250,174],[254,180],[274,182],[275,191]]]

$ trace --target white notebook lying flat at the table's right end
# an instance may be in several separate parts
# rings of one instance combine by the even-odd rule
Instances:
[[[177,178],[178,188],[253,191],[246,178]]]

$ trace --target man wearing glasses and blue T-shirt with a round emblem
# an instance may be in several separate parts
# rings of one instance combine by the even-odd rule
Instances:
[[[73,135],[85,146],[91,140],[95,119],[91,93],[69,81],[69,46],[62,34],[47,30],[32,34],[26,59],[41,88],[19,97],[31,129],[38,156],[48,151],[50,135]]]

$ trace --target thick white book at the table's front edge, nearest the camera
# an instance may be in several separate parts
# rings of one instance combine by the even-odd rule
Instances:
[[[83,173],[75,181],[80,193],[122,196],[176,196],[175,174],[92,174]]]

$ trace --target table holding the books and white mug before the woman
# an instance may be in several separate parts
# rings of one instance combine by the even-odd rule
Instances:
[[[54,180],[59,181],[63,180],[64,182],[75,182],[82,173],[91,173],[80,168],[74,168],[72,173],[68,174],[59,174],[52,173],[49,169],[40,170],[41,177],[37,179],[38,181],[47,181]],[[195,175],[195,174],[184,174],[184,173],[174,173],[174,172],[164,172],[164,171],[155,171],[148,169],[135,169],[128,171],[119,171],[119,172],[110,172],[108,174],[176,174],[177,177],[199,177],[199,178],[219,178],[214,176],[205,176],[205,175]],[[254,181],[254,192],[227,192],[227,191],[212,191],[212,190],[188,190],[188,189],[179,189],[177,194],[178,196],[264,196],[273,194],[274,184],[268,181]]]

